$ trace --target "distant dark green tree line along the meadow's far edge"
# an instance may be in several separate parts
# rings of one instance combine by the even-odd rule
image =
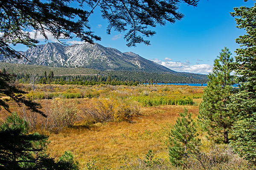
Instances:
[[[54,75],[53,71],[44,75],[17,74],[16,80],[21,83],[40,84],[76,84],[76,85],[139,85],[156,83],[206,83],[207,79],[194,79],[179,77],[172,74],[129,72],[129,71],[104,71],[96,75]]]

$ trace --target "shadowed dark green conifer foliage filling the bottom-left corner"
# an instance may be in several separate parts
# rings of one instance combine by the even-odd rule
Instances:
[[[48,136],[29,133],[28,123],[16,114],[0,125],[0,168],[3,170],[78,170],[70,152],[58,161],[45,154]]]

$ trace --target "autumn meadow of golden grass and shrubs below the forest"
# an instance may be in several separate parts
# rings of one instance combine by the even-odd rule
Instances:
[[[48,154],[58,158],[70,151],[84,170],[177,169],[169,162],[170,130],[184,108],[196,121],[205,88],[37,85],[32,91],[29,84],[19,84],[19,87],[28,92],[28,98],[41,103],[48,117],[43,118],[24,107],[17,108],[12,101],[9,101],[10,109],[29,121],[32,131],[49,136]],[[1,111],[4,119],[9,113]],[[197,128],[201,134],[201,150],[205,153],[202,160],[209,161],[207,166],[248,169],[248,162],[232,153],[230,147],[216,146]],[[148,153],[152,156],[151,163],[145,161]],[[195,160],[190,164],[195,167],[192,169],[206,169]]]

